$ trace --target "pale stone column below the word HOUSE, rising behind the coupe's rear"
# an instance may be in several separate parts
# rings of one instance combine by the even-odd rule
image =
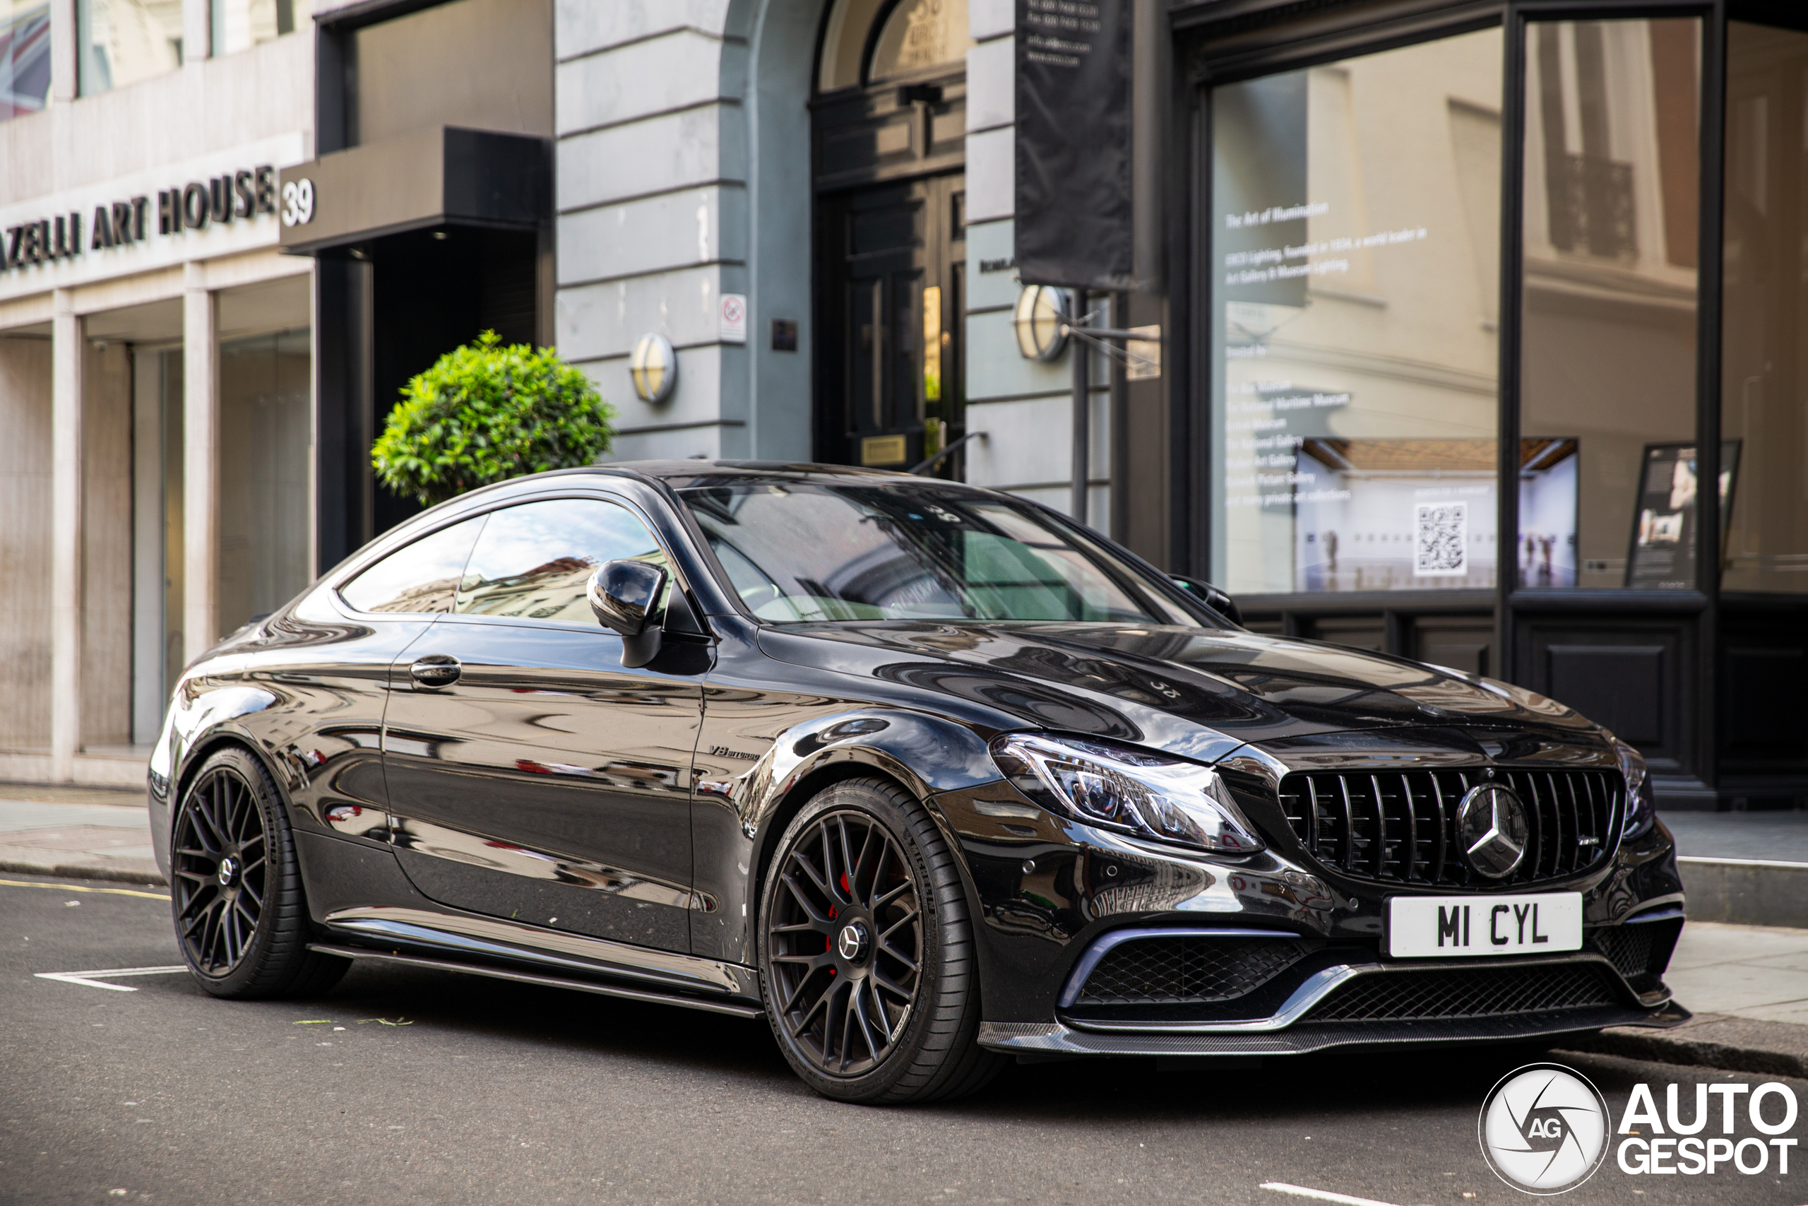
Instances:
[[[219,640],[219,338],[206,269],[183,280],[183,658]]]

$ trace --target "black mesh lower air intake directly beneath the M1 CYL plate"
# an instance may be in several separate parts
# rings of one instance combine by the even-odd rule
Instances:
[[[1439,967],[1358,976],[1307,1014],[1313,1022],[1504,1018],[1551,1009],[1616,1005],[1613,973],[1598,964]]]

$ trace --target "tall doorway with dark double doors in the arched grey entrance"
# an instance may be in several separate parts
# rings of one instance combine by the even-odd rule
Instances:
[[[835,0],[812,101],[815,459],[908,466],[960,438],[965,0]],[[960,454],[937,472],[958,476]]]

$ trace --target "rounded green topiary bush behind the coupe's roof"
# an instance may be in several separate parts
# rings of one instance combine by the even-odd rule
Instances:
[[[376,477],[425,506],[466,490],[595,465],[615,407],[551,347],[504,347],[495,331],[454,349],[401,391],[371,447]]]

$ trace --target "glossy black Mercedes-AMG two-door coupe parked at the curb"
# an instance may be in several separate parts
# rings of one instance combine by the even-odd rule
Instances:
[[[1640,756],[1508,683],[1242,629],[1022,499],[815,465],[521,477],[183,674],[195,980],[351,960],[770,1020],[844,1101],[1009,1056],[1687,1018]]]

